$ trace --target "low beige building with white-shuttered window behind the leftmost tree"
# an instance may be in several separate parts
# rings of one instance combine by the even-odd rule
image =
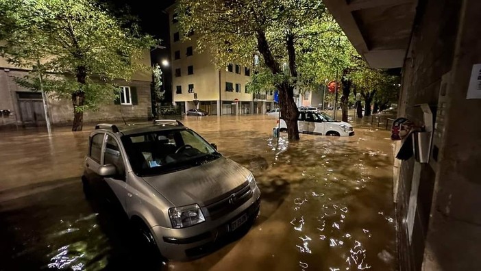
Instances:
[[[149,51],[138,62],[150,66]],[[16,77],[24,77],[28,72],[0,57],[0,128],[45,125],[42,94],[23,88],[15,81]],[[151,74],[148,70],[135,73],[130,81],[116,83],[123,90],[121,99],[106,101],[99,109],[84,112],[84,122],[147,120],[151,116]],[[70,125],[73,120],[73,105],[69,99],[55,99],[47,94],[47,112],[52,125]]]

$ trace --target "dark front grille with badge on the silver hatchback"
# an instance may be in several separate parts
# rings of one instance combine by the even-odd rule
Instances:
[[[249,200],[251,195],[252,190],[249,186],[249,183],[243,183],[242,185],[238,186],[238,188],[227,194],[225,198],[208,205],[207,209],[209,211],[209,217],[212,220],[216,220],[217,218],[229,214],[231,211],[234,211],[240,205],[243,205],[243,203]]]

